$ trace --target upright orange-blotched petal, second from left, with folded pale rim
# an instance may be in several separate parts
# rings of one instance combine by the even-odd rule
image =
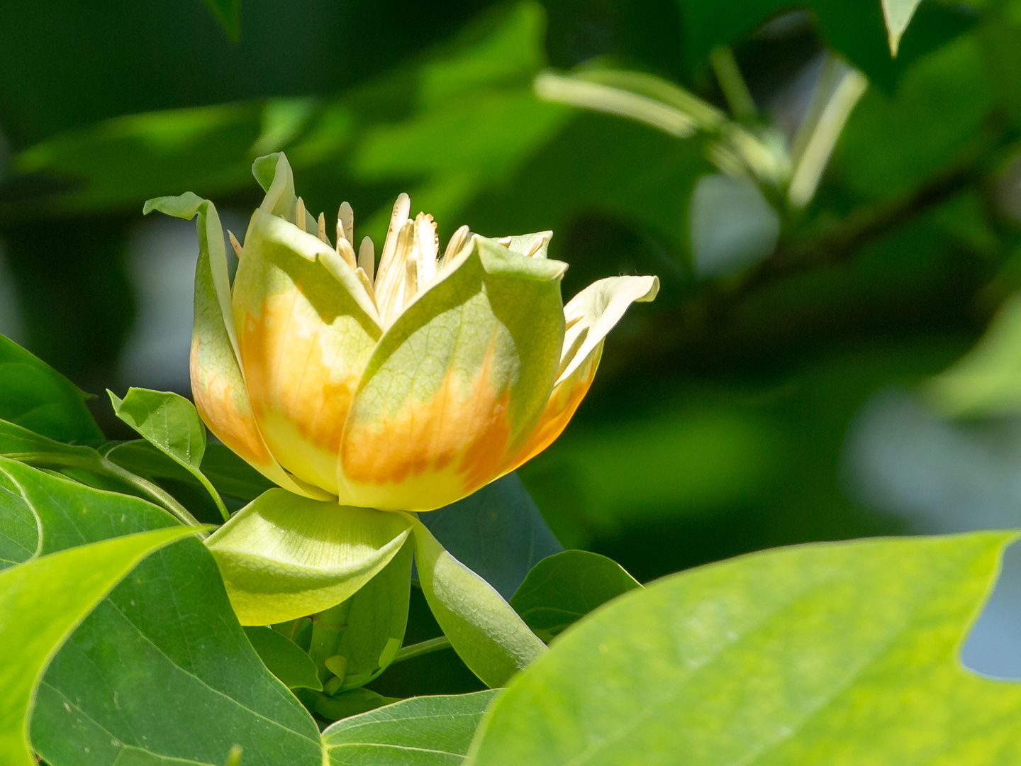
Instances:
[[[347,409],[382,330],[356,272],[332,247],[256,210],[234,284],[255,420],[270,450],[332,493]]]

